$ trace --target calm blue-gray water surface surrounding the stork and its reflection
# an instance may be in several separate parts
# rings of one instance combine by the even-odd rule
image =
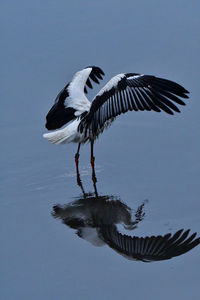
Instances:
[[[96,188],[133,209],[133,221],[144,203],[137,228],[117,225],[122,234],[191,229],[199,237],[199,8],[199,1],[154,0],[1,4],[2,300],[199,299],[200,245],[169,260],[136,262],[55,218],[55,205],[84,198],[83,190],[95,195],[90,146],[80,149],[82,190],[77,146],[42,137],[56,96],[88,65],[105,73],[90,101],[118,73],[183,85],[190,99],[180,114],[128,112],[103,132],[94,145]]]

